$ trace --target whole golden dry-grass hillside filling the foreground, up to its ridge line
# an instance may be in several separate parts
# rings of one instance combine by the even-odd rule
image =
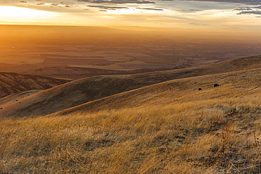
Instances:
[[[0,172],[260,173],[260,74],[188,77],[4,118]]]

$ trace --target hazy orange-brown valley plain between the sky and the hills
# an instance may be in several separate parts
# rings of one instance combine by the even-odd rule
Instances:
[[[261,53],[258,33],[137,28],[0,25],[0,71],[78,79],[91,75],[76,68],[166,70]]]

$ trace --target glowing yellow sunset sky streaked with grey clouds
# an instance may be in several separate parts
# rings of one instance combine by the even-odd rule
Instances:
[[[261,30],[261,0],[0,0],[0,24]]]

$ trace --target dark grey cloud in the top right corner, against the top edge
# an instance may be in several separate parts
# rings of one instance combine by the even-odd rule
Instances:
[[[176,0],[158,0],[158,1],[176,1]],[[260,0],[180,0],[180,1],[212,1],[212,2],[224,2],[224,3],[239,3],[247,5],[261,5]]]

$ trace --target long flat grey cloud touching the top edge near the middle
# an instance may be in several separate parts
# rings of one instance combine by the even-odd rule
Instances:
[[[138,1],[138,0],[76,0],[76,1],[84,1],[96,4],[155,4],[153,1]]]

